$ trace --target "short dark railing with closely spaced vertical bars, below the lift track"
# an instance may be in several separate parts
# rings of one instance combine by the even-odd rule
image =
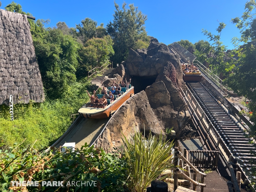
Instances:
[[[219,151],[188,151],[188,161],[202,169],[218,167]]]

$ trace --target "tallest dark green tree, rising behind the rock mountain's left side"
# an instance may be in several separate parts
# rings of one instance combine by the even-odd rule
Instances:
[[[115,55],[111,59],[115,63],[120,63],[127,57],[129,49],[135,48],[138,40],[149,41],[145,30],[147,16],[142,14],[138,7],[134,7],[134,4],[130,4],[127,9],[127,4],[124,2],[123,10],[115,2],[114,4],[116,9],[113,14],[114,19],[107,24],[106,29],[114,42]]]

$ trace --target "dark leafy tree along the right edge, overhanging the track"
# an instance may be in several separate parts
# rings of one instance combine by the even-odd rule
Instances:
[[[250,100],[249,108],[252,112],[250,120],[254,125],[250,127],[250,137],[256,136],[256,2],[250,0],[245,4],[245,12],[241,17],[231,19],[232,23],[236,24],[240,29],[241,37],[238,39],[244,45],[238,49],[239,59],[236,67],[225,80],[228,86],[239,95]],[[235,38],[236,39],[236,38]],[[256,144],[254,143],[256,147]],[[251,152],[256,156],[256,152]],[[251,164],[256,165],[256,159],[252,159]],[[252,176],[256,176],[256,167],[251,169]],[[252,179],[252,186],[256,191],[256,179]]]

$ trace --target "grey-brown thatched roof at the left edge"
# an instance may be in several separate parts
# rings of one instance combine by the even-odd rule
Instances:
[[[27,16],[0,9],[0,105],[44,101]]]

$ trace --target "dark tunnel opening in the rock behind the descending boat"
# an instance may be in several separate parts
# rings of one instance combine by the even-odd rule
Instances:
[[[145,91],[147,86],[151,86],[157,78],[156,76],[132,76],[131,84],[134,86],[134,93]]]

